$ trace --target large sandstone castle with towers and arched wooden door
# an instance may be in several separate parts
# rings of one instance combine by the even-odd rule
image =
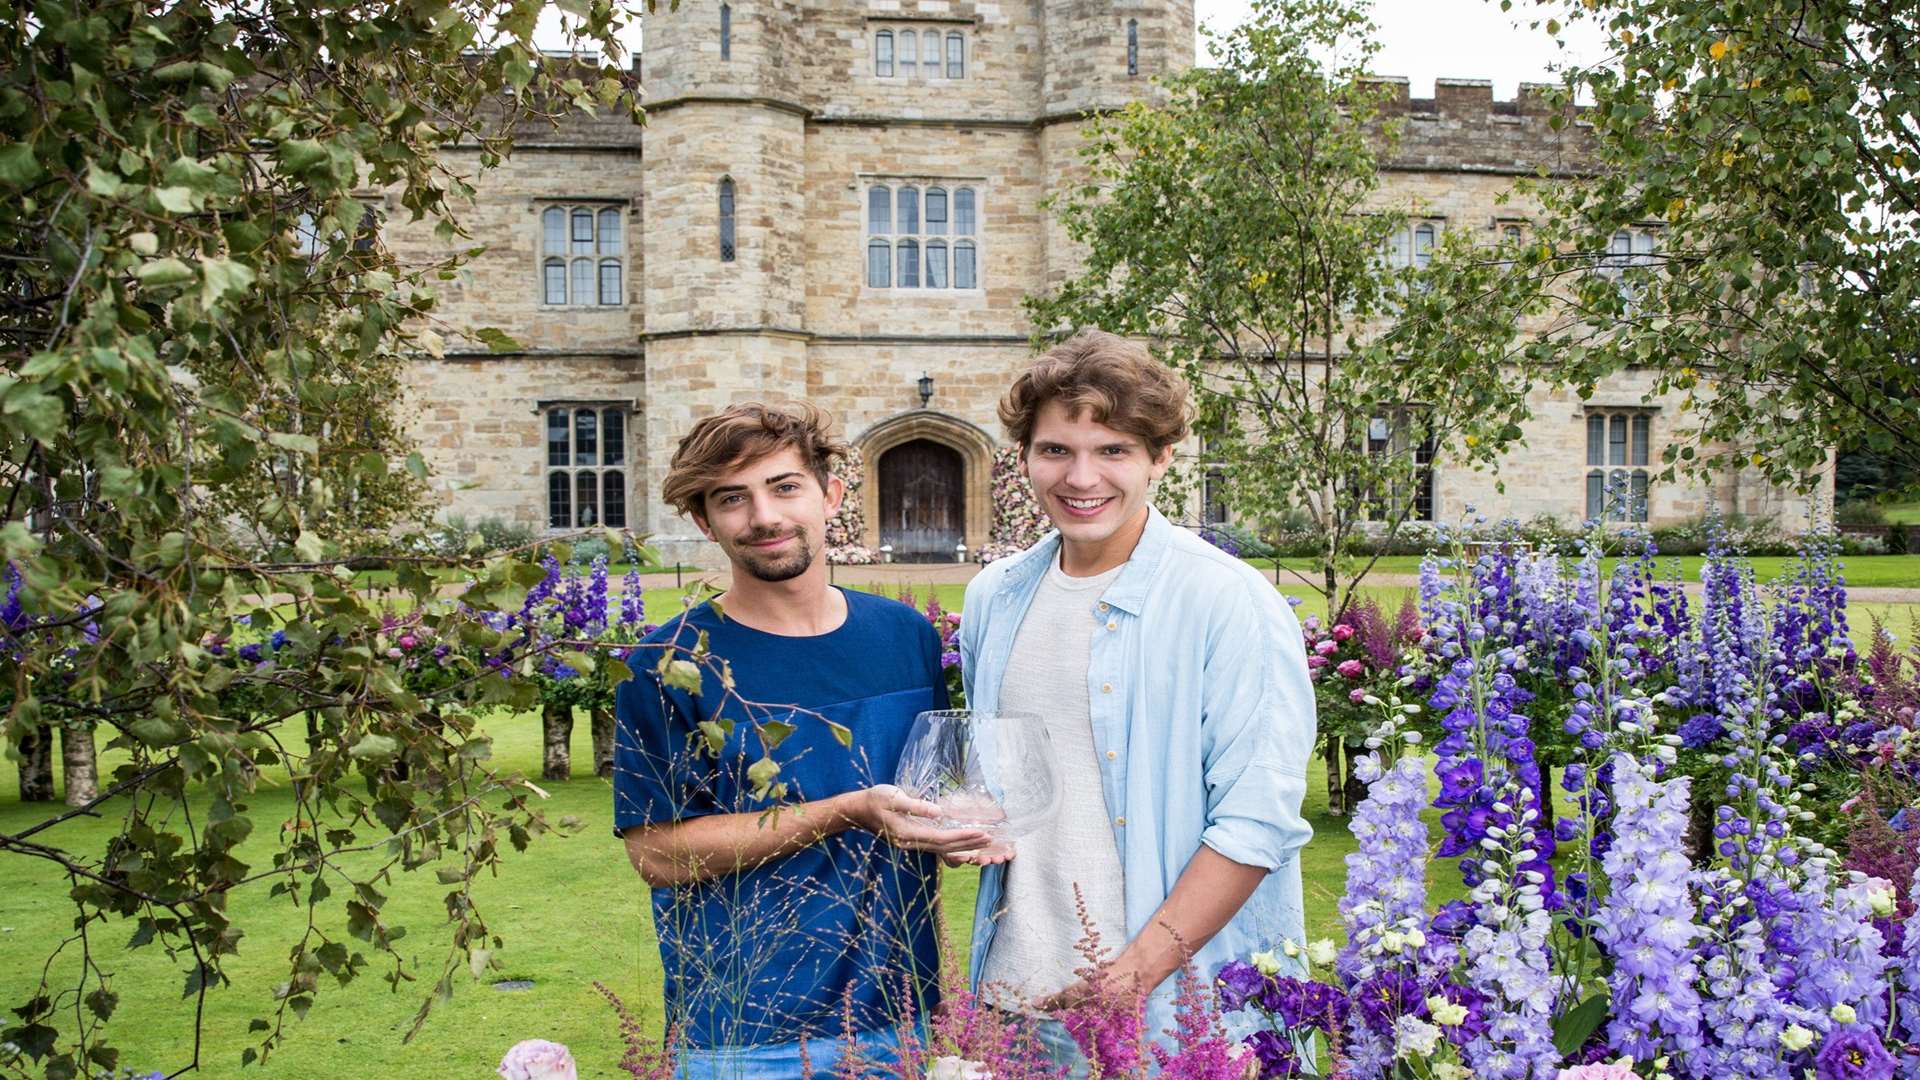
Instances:
[[[678,438],[737,400],[808,398],[864,452],[866,542],[945,559],[987,542],[995,402],[1031,356],[1021,298],[1075,269],[1041,204],[1079,183],[1085,115],[1152,98],[1194,61],[1192,0],[682,0],[647,17],[645,127],[574,117],[516,140],[463,213],[484,252],[444,290],[455,327],[522,352],[411,369],[415,434],[447,507],[551,530],[620,525],[668,559],[716,550],[659,500]],[[1392,108],[1382,200],[1440,229],[1524,229],[1501,204],[1567,161],[1538,90],[1442,79]],[[449,165],[478,173],[478,158]],[[442,250],[388,225],[401,259]],[[1645,234],[1615,238],[1645,250]],[[1640,244],[1640,248],[1636,248]],[[1626,373],[1580,402],[1536,390],[1496,477],[1430,448],[1417,517],[1578,521],[1632,475],[1651,523],[1709,509],[1805,519],[1757,475],[1647,484],[1674,405]],[[1196,509],[1194,517],[1208,513]]]

